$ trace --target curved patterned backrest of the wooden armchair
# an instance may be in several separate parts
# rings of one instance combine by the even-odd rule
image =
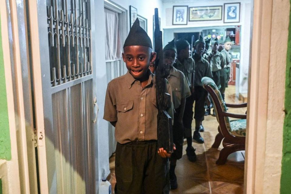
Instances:
[[[208,77],[203,77],[201,79],[202,82],[202,86],[203,88],[205,88],[208,93],[210,94],[213,104],[214,104],[214,109],[215,109],[215,115],[216,115],[216,119],[219,123],[220,129],[226,127],[226,129],[229,131],[231,131],[231,126],[230,126],[230,121],[228,116],[220,116],[219,114],[221,114],[220,112],[227,112],[225,103],[222,100],[222,95],[219,91],[219,89],[217,88],[215,82]],[[207,87],[207,86],[210,86]],[[211,92],[212,90],[212,92]]]

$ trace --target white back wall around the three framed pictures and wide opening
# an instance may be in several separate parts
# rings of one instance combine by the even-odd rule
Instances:
[[[195,32],[191,31],[193,28],[208,27],[208,26],[237,26],[241,25],[241,57],[240,57],[240,69],[236,69],[236,95],[239,93],[247,93],[248,91],[248,72],[249,72],[249,50],[250,50],[250,33],[251,33],[251,2],[252,0],[238,0],[235,2],[241,3],[240,8],[240,22],[239,23],[223,23],[222,20],[216,21],[198,21],[189,22],[187,25],[172,25],[173,6],[174,5],[188,5],[188,7],[198,6],[215,6],[224,5],[224,3],[233,3],[232,0],[164,0],[162,15],[165,19],[161,20],[161,26],[164,29],[164,43],[169,42],[174,38],[172,32]],[[192,29],[191,29],[192,28]],[[171,30],[170,30],[171,29]],[[169,35],[171,33],[171,35]]]

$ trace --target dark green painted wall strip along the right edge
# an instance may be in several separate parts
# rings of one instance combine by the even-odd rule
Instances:
[[[289,194],[291,192],[291,13],[289,18],[289,37],[286,66],[285,113],[280,189],[281,194]]]

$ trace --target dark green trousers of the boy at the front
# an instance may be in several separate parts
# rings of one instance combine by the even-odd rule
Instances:
[[[168,194],[167,158],[157,154],[157,141],[117,143],[115,152],[117,194]]]

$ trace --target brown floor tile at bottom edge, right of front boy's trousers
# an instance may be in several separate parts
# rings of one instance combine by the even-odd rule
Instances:
[[[178,188],[171,190],[170,194],[201,194],[210,193],[209,181],[195,178],[177,177]]]

